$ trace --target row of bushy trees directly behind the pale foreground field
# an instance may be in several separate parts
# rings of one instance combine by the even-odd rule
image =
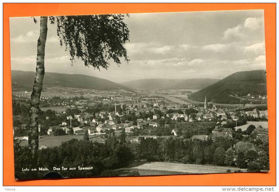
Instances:
[[[191,164],[213,164],[220,166],[236,166],[249,168],[250,171],[269,170],[268,143],[263,148],[267,150],[262,154],[247,151],[246,155],[238,153],[234,161],[234,151],[230,148],[238,140],[217,137],[213,142],[208,140],[139,138],[140,143],[132,143],[136,159],[147,161],[168,161]],[[229,149],[229,150],[228,150]],[[250,166],[249,166],[250,165]],[[251,165],[255,166],[254,168]]]

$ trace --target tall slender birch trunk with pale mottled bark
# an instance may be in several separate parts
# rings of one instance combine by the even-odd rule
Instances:
[[[29,158],[30,167],[37,167],[38,148],[39,148],[39,131],[38,131],[38,113],[41,91],[43,88],[43,79],[45,75],[45,41],[47,37],[47,20],[48,17],[41,17],[40,36],[37,42],[37,66],[36,77],[33,91],[31,94],[31,104],[29,111]]]

